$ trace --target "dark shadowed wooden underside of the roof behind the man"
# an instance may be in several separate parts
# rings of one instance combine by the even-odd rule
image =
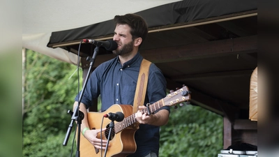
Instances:
[[[78,45],[63,48],[77,52]],[[191,104],[234,121],[249,116],[250,77],[257,67],[257,50],[257,10],[253,10],[151,28],[140,53],[163,71],[167,89],[185,84],[192,91]],[[83,45],[80,51],[86,57],[92,45]],[[94,67],[113,57],[100,49]],[[84,60],[86,67],[89,63]]]

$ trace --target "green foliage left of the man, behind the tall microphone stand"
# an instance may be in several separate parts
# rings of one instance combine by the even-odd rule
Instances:
[[[62,144],[70,124],[67,112],[72,110],[77,94],[76,68],[70,63],[27,51],[23,156],[70,156],[75,125],[67,147]],[[73,73],[75,75],[70,77]]]

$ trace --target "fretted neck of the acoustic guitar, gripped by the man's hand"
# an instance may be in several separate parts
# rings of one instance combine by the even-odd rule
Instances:
[[[149,111],[151,113],[155,112],[156,110],[160,109],[164,106],[163,99],[158,100],[156,103],[153,103],[149,105]],[[147,108],[142,110],[144,113],[147,113]],[[114,125],[114,131],[115,133],[119,133],[121,130],[127,128],[128,126],[135,124],[137,122],[137,119],[135,119],[135,114],[130,115],[129,117],[126,117],[123,119],[123,121],[120,121]]]

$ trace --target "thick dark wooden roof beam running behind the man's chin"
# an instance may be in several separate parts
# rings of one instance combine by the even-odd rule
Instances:
[[[257,52],[257,36],[214,40],[192,45],[140,51],[145,59],[153,63],[187,61],[189,59],[218,57],[228,54],[248,54],[252,52]],[[112,59],[113,57],[115,57],[114,54],[98,55],[94,66],[98,66],[100,63]]]

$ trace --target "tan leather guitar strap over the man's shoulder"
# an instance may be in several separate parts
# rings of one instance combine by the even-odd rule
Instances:
[[[137,112],[137,107],[144,105],[150,65],[150,61],[147,61],[146,59],[142,60],[139,77],[137,79],[137,89],[135,90],[133,113]]]

